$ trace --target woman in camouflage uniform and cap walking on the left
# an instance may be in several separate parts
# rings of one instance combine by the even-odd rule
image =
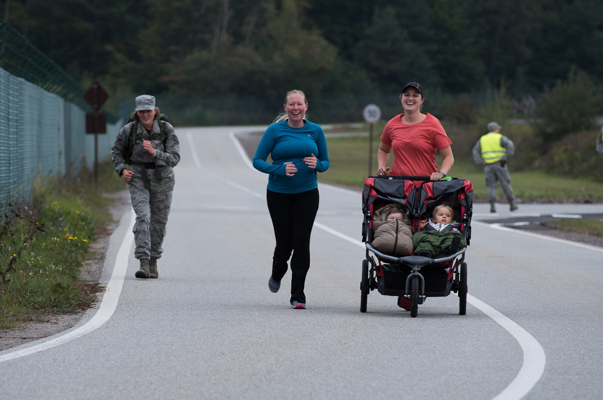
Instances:
[[[180,161],[174,127],[160,116],[153,96],[138,96],[133,121],[121,128],[111,150],[113,167],[128,183],[136,213],[134,256],[140,260],[136,278],[159,277],[157,258],[163,252],[174,190],[172,167]]]

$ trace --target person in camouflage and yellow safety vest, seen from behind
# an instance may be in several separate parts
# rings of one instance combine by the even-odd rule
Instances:
[[[502,187],[502,191],[509,201],[509,210],[517,210],[515,196],[511,188],[511,175],[509,175],[507,169],[507,157],[511,157],[514,152],[513,142],[508,137],[500,134],[500,125],[496,122],[488,123],[488,133],[482,136],[473,146],[473,160],[476,164],[484,166],[491,213],[496,213],[494,203],[496,202],[497,182],[500,182],[500,187]]]

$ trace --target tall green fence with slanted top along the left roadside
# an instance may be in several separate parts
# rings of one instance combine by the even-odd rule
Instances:
[[[2,20],[0,20],[2,22]],[[84,89],[6,22],[0,23],[0,200],[30,201],[34,178],[76,175],[94,163]],[[99,160],[109,157],[121,122],[107,117]]]

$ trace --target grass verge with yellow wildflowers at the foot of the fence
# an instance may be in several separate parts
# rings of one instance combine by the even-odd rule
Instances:
[[[97,283],[80,280],[82,262],[98,228],[110,222],[103,193],[124,189],[110,160],[75,179],[41,177],[31,204],[6,205],[0,231],[0,328],[45,314],[89,307]]]

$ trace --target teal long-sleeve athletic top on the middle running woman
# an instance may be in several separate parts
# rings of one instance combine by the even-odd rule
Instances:
[[[268,154],[272,164],[266,160]],[[305,157],[317,158],[316,168],[312,169],[305,162]],[[297,172],[292,177],[285,173],[285,163],[292,161]],[[273,123],[262,136],[253,156],[253,167],[268,173],[268,190],[279,193],[301,193],[316,189],[317,172],[329,169],[329,153],[327,140],[324,139],[323,128],[316,123],[305,120],[301,128],[291,128],[287,120]]]

